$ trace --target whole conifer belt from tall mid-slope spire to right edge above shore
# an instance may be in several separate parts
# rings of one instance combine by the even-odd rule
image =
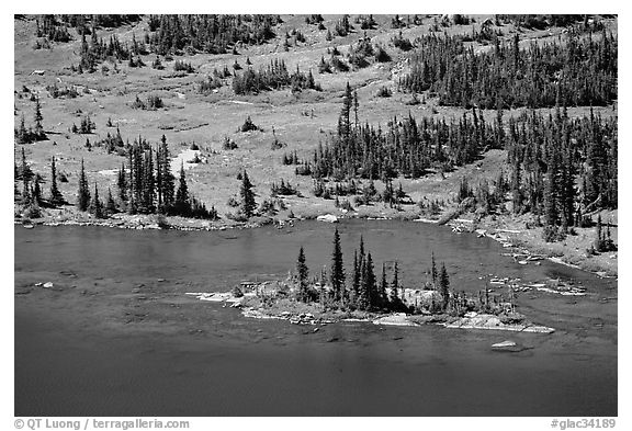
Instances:
[[[508,150],[510,178],[500,174],[494,191],[486,182],[476,190],[461,184],[461,200],[476,197],[490,208],[504,203],[505,193],[510,192],[515,213],[531,212],[552,227],[545,232],[546,240],[560,239],[588,213],[618,205],[617,117],[602,118],[591,109],[588,116],[569,118],[565,107],[556,107],[548,115],[531,111],[507,120],[499,109],[488,124],[479,110],[472,109],[471,114],[450,123],[426,117],[417,122],[411,115],[394,118],[383,132],[360,125],[358,106],[348,84],[337,135],[318,146],[312,161],[296,168],[297,174],[315,179],[317,196],[354,194],[354,178],[381,179],[388,184],[398,175],[419,178],[430,168],[449,170],[473,162],[486,149],[498,148]],[[327,186],[324,179],[347,180],[353,186]],[[376,193],[369,189],[362,194],[371,200]],[[395,202],[392,185],[382,197]]]

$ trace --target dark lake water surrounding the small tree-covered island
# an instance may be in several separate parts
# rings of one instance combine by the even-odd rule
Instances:
[[[328,265],[334,226],[224,231],[15,227],[16,416],[616,416],[617,282],[543,261],[519,265],[488,238],[394,220],[338,225],[349,271],[360,235],[380,274],[453,288],[481,276],[562,277],[587,295],[526,292],[552,334],[246,319],[185,292],[285,276],[303,246]],[[53,282],[54,288],[34,287]],[[501,292],[501,288],[497,288]],[[529,349],[495,352],[512,339]]]

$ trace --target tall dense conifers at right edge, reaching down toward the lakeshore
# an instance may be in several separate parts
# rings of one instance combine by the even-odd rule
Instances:
[[[617,208],[617,117],[569,118],[566,110],[509,120],[506,136],[514,212],[543,217],[545,239],[580,226],[585,215]],[[546,238],[548,237],[548,238]]]

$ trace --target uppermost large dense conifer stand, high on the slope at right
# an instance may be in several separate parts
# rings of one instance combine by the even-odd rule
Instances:
[[[475,53],[459,36],[424,35],[399,89],[429,91],[442,105],[481,109],[608,105],[617,99],[618,38],[571,29],[555,43],[519,47],[497,38]]]

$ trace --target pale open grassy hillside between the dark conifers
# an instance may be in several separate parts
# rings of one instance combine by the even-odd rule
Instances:
[[[402,15],[400,15],[402,16]],[[479,23],[485,16],[476,15]],[[119,65],[120,73],[114,73],[113,65],[108,64],[110,71],[102,73],[100,70],[90,75],[72,75],[68,69],[70,65],[79,63],[77,55],[80,47],[80,37],[68,44],[54,44],[52,50],[34,50],[32,45],[35,41],[35,23],[33,21],[14,21],[15,35],[15,61],[14,61],[14,98],[15,125],[24,114],[26,124],[33,123],[34,103],[29,101],[29,94],[20,98],[22,86],[26,86],[40,95],[42,112],[44,115],[44,128],[49,139],[33,145],[15,145],[15,155],[19,161],[19,154],[23,147],[29,162],[36,172],[49,178],[49,160],[52,156],[57,158],[58,171],[68,175],[68,183],[59,183],[60,190],[70,202],[75,201],[77,192],[77,179],[81,159],[84,159],[86,169],[91,183],[98,183],[101,195],[106,195],[106,188],[112,188],[115,192],[116,177],[102,174],[99,171],[117,169],[126,160],[120,156],[108,155],[103,148],[93,148],[88,151],[84,148],[86,139],[99,140],[108,133],[114,134],[115,127],[106,127],[108,118],[112,118],[115,126],[119,126],[124,139],[133,141],[142,135],[153,143],[157,143],[162,135],[170,143],[173,155],[189,148],[195,141],[202,148],[203,156],[206,156],[207,163],[200,163],[187,172],[190,190],[195,196],[201,199],[208,207],[214,205],[219,215],[224,216],[234,209],[227,205],[232,195],[238,193],[239,181],[237,173],[246,169],[251,181],[256,185],[258,202],[270,196],[270,184],[281,178],[290,180],[298,186],[303,197],[285,199],[289,211],[297,216],[315,216],[317,214],[335,213],[340,214],[334,207],[334,201],[316,199],[312,194],[313,181],[307,177],[296,177],[293,166],[283,166],[281,157],[284,151],[296,151],[300,158],[311,159],[314,149],[319,141],[325,141],[330,133],[334,133],[337,125],[338,114],[341,107],[341,97],[347,82],[358,91],[360,99],[359,116],[362,123],[382,125],[393,117],[403,117],[410,113],[420,118],[422,116],[436,116],[459,118],[464,110],[455,107],[437,106],[435,100],[428,100],[426,104],[415,106],[406,105],[410,99],[409,94],[394,91],[392,98],[377,98],[376,92],[380,87],[390,87],[396,90],[396,76],[394,69],[402,69],[405,58],[404,53],[396,49],[391,44],[391,38],[398,34],[398,30],[391,29],[391,16],[376,15],[379,26],[375,30],[366,31],[366,35],[373,37],[374,43],[380,43],[386,47],[392,55],[393,61],[388,64],[373,64],[364,69],[345,72],[326,73],[317,72],[317,65],[321,56],[328,58],[326,50],[337,46],[346,54],[349,45],[356,43],[364,36],[364,31],[356,25],[356,32],[347,37],[336,37],[334,41],[326,41],[326,31],[318,31],[316,25],[305,24],[304,16],[283,16],[284,23],[278,29],[278,37],[260,46],[241,47],[239,55],[204,55],[199,54],[190,57],[178,58],[190,61],[196,69],[194,73],[176,77],[173,73],[173,61],[163,61],[165,70],[154,70],[149,67],[154,55],[144,57],[148,65],[140,69],[131,69],[124,63]],[[334,31],[335,23],[339,19],[336,15],[325,15],[325,26]],[[352,16],[353,19],[353,16]],[[351,19],[351,21],[352,21]],[[425,19],[425,24],[404,29],[405,37],[415,38],[428,32],[432,23],[431,18]],[[616,21],[610,25],[614,26]],[[136,25],[123,26],[113,31],[99,32],[103,39],[108,39],[111,34],[117,34],[121,41],[129,42],[134,34],[137,39],[142,39],[147,27],[146,21]],[[291,47],[284,52],[282,36],[285,31],[300,30],[306,36],[306,43]],[[471,33],[472,26],[451,26],[442,32],[447,34]],[[511,25],[503,27],[506,37],[510,37],[515,29]],[[562,32],[562,29],[552,29],[545,34],[541,32],[522,33],[522,38],[548,39],[553,38]],[[323,87],[323,92],[303,91],[300,94],[292,94],[290,90],[262,92],[257,95],[235,95],[230,86],[221,88],[216,93],[202,95],[198,92],[198,84],[201,80],[212,73],[214,68],[218,70],[237,61],[246,67],[246,58],[250,58],[255,68],[264,66],[273,59],[285,60],[289,70],[294,70],[298,66],[303,71],[312,69],[315,79]],[[45,70],[44,76],[31,75],[35,69]],[[53,99],[45,90],[46,86],[57,83],[59,87],[76,86],[80,91],[77,99]],[[229,81],[228,81],[229,83]],[[83,93],[83,88],[89,89],[89,93]],[[132,103],[136,95],[140,99],[149,94],[160,95],[165,101],[165,109],[157,111],[142,111],[132,109]],[[77,114],[80,110],[81,114]],[[571,116],[582,115],[587,112],[586,107],[569,109]],[[517,110],[511,114],[518,114],[523,110]],[[546,110],[544,110],[546,111]],[[613,107],[596,109],[601,115],[617,115]],[[312,115],[303,115],[309,113]],[[79,125],[81,117],[90,114],[97,124],[97,129],[92,135],[71,134],[72,123]],[[238,133],[238,127],[250,115],[252,121],[263,132]],[[486,112],[485,120],[492,122],[495,112]],[[271,150],[273,141],[272,128],[276,137],[286,145],[280,150]],[[227,136],[235,140],[238,148],[235,150],[223,150],[222,143]],[[463,177],[476,183],[478,180],[496,179],[498,172],[504,169],[508,171],[506,165],[506,152],[493,150],[485,157],[467,167],[463,167],[454,172],[445,174],[429,174],[418,180],[399,179],[404,190],[410,195],[413,201],[422,199],[443,200],[451,203],[458,190],[458,184]],[[396,181],[396,182],[397,182]],[[383,184],[376,182],[379,190]],[[45,193],[48,183],[44,184]],[[404,213],[398,213],[387,208],[382,204],[370,207],[356,208],[360,216],[407,216],[418,214],[416,205],[405,205]],[[280,216],[284,217],[289,211]],[[571,246],[568,246],[571,247]],[[579,247],[579,246],[577,246]],[[583,247],[583,246],[582,246]],[[579,249],[582,249],[579,247]],[[614,260],[616,262],[616,260]]]

